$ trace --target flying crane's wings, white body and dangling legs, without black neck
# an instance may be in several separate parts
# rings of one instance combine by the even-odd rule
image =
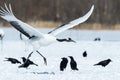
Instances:
[[[93,10],[94,10],[94,5],[92,5],[91,9],[83,17],[77,18],[67,24],[55,28],[54,30],[50,31],[48,34],[41,33],[32,26],[17,19],[13,14],[10,4],[8,6],[4,4],[4,7],[1,7],[0,17],[6,20],[7,22],[9,22],[14,28],[16,28],[19,32],[21,32],[22,34],[24,34],[29,38],[29,43],[33,46],[33,50],[28,55],[27,59],[29,59],[32,53],[37,52],[43,57],[44,63],[47,65],[46,58],[38,51],[38,49],[42,46],[47,46],[53,42],[59,42],[59,40],[56,38],[56,35],[80,23],[85,22],[91,16]]]

